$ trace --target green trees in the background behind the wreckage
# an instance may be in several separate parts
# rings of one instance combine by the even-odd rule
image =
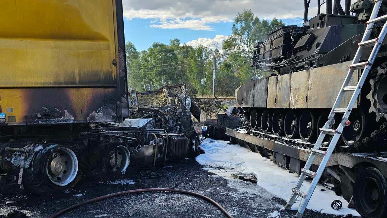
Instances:
[[[243,10],[235,16],[232,35],[226,37],[221,50],[182,44],[177,38],[169,44],[154,42],[142,51],[127,42],[128,87],[145,92],[183,82],[190,95],[211,95],[215,55],[216,95],[234,96],[243,83],[269,74],[250,67],[251,53],[255,43],[266,40],[267,33],[280,26],[281,20],[259,19],[251,10]]]

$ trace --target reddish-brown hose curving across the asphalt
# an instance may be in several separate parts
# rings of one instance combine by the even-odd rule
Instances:
[[[218,204],[216,201],[212,200],[211,198],[209,198],[207,196],[204,196],[204,195],[201,195],[201,194],[198,194],[198,193],[195,193],[195,192],[190,192],[190,191],[180,190],[180,189],[135,189],[135,190],[128,190],[128,191],[123,191],[123,192],[116,192],[116,193],[112,193],[112,194],[107,194],[107,195],[104,195],[104,196],[96,197],[96,198],[93,198],[93,199],[90,199],[90,200],[87,200],[87,201],[83,201],[83,202],[80,202],[78,204],[74,204],[74,205],[72,205],[72,206],[70,206],[68,208],[65,208],[65,209],[59,211],[58,213],[50,216],[49,218],[59,217],[60,215],[63,215],[65,213],[67,213],[68,211],[71,211],[71,210],[73,210],[75,208],[79,208],[79,207],[84,206],[86,204],[94,203],[94,202],[97,202],[97,201],[102,201],[104,199],[108,199],[108,198],[111,198],[111,197],[122,196],[122,195],[125,195],[125,194],[142,193],[142,192],[177,192],[177,193],[182,193],[182,194],[187,194],[187,195],[199,197],[199,198],[204,199],[205,201],[208,201],[211,204],[213,204],[227,218],[233,218],[233,216],[231,216],[226,211],[226,209],[224,209],[220,204]]]

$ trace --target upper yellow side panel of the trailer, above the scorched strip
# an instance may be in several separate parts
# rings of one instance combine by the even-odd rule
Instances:
[[[0,87],[115,86],[113,0],[0,0]]]

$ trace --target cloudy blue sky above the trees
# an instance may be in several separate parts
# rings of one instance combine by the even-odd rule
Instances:
[[[137,50],[154,42],[168,44],[172,38],[195,43],[191,45],[221,45],[231,34],[234,16],[244,9],[261,19],[277,17],[294,25],[302,23],[303,0],[123,0],[125,40]],[[311,0],[308,16],[316,14],[317,1]]]

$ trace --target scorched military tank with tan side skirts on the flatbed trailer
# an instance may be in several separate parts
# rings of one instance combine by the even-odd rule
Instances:
[[[254,45],[252,67],[274,71],[236,89],[236,106],[243,126],[253,134],[310,147],[327,121],[337,93],[348,72],[366,28],[373,2],[357,0],[349,14],[319,14],[303,26],[282,26],[268,39]],[[387,14],[383,2],[380,15]],[[383,22],[374,28],[377,38]],[[373,69],[361,89],[337,149],[386,150],[387,139],[387,42],[383,42]],[[366,61],[372,47],[365,48]],[[351,78],[356,85],[362,73]],[[346,107],[351,93],[346,93]],[[337,123],[339,122],[337,118]],[[333,127],[333,126],[332,126]],[[330,137],[325,138],[329,142]]]

